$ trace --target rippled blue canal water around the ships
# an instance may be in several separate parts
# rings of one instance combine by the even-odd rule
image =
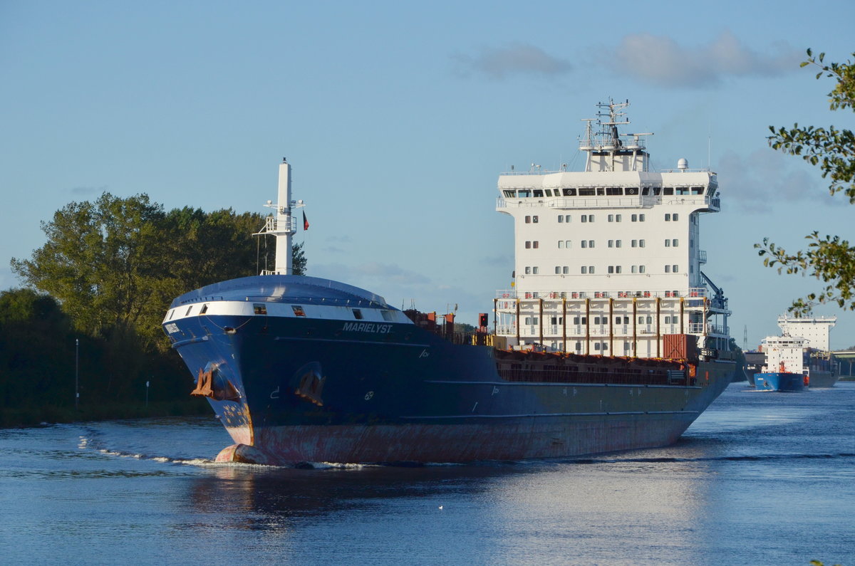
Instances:
[[[216,464],[210,418],[0,430],[3,563],[855,564],[855,383],[734,383],[676,444],[417,468]]]

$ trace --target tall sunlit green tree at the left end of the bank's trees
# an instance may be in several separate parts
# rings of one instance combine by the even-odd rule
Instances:
[[[12,269],[62,304],[89,335],[144,321],[163,276],[160,204],[146,195],[105,192],[94,203],[69,203],[42,222],[47,243]]]

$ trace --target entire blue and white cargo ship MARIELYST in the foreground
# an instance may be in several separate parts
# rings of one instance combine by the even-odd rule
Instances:
[[[728,301],[699,247],[720,196],[716,174],[685,160],[652,171],[650,134],[618,132],[627,106],[598,103],[584,171],[499,175],[515,271],[474,333],[292,274],[302,201],[283,160],[260,232],[276,238],[275,269],[181,295],[162,322],[233,439],[216,460],[472,462],[675,442],[735,369]]]

